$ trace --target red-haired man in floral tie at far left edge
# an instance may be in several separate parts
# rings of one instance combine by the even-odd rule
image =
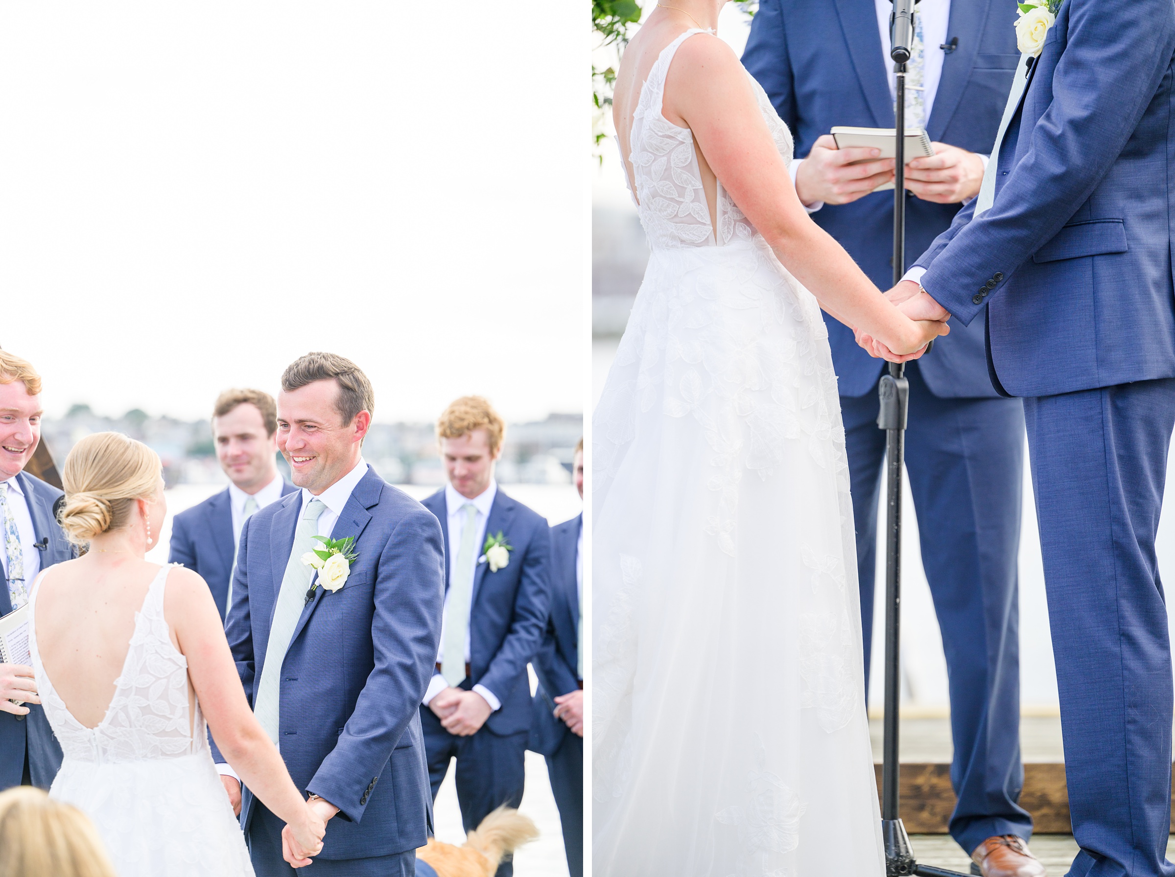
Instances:
[[[41,569],[74,556],[54,517],[61,491],[22,471],[40,440],[41,378],[27,360],[0,350],[0,615],[28,602]],[[0,789],[48,789],[61,767],[45,710],[29,700],[35,693],[32,667],[0,663]]]

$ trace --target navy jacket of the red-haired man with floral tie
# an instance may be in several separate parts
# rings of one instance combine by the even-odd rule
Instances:
[[[43,542],[48,539],[48,546],[41,552],[41,569],[63,560],[72,560],[76,552],[53,514],[53,505],[62,497],[61,491],[39,478],[33,478],[27,472],[16,475],[16,480],[20,481],[20,488],[28,500],[34,541]],[[26,585],[32,587],[33,582]],[[0,565],[0,615],[7,615],[9,612],[12,612],[12,600],[8,596],[8,579],[4,574],[4,566]],[[53,736],[45,710],[35,703],[25,706],[28,707],[28,714],[25,716],[0,713],[0,789],[20,785],[25,771],[26,748],[28,770],[34,785],[49,788],[61,767],[61,744]]]

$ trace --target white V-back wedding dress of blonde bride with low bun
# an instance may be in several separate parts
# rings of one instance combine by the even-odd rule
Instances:
[[[114,699],[93,729],[70,715],[45,674],[35,620],[45,573],[38,578],[29,650],[45,715],[65,753],[49,795],[94,821],[119,877],[253,877],[199,702],[194,715],[188,710],[188,662],[163,619],[169,568],[159,571],[135,613]]]

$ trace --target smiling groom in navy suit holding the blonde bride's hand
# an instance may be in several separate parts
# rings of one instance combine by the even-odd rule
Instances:
[[[226,634],[257,720],[328,819],[314,873],[412,877],[431,828],[418,707],[444,547],[436,518],[363,461],[374,407],[343,357],[307,353],[282,375],[277,441],[302,490],[246,524]],[[306,564],[316,537],[354,540],[344,578]],[[293,873],[282,823],[248,789],[241,827],[258,877]]]

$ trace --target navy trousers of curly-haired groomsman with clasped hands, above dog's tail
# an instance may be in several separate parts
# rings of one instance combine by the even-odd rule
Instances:
[[[469,680],[462,682],[464,688]],[[429,782],[432,800],[449,773],[449,762],[457,760],[457,803],[461,823],[469,834],[482,819],[505,804],[517,808],[526,787],[528,731],[499,735],[482,726],[477,734],[458,737],[441,727],[441,720],[428,707],[421,707],[424,728],[424,751],[429,756]],[[496,877],[513,877],[513,863],[498,865]]]

